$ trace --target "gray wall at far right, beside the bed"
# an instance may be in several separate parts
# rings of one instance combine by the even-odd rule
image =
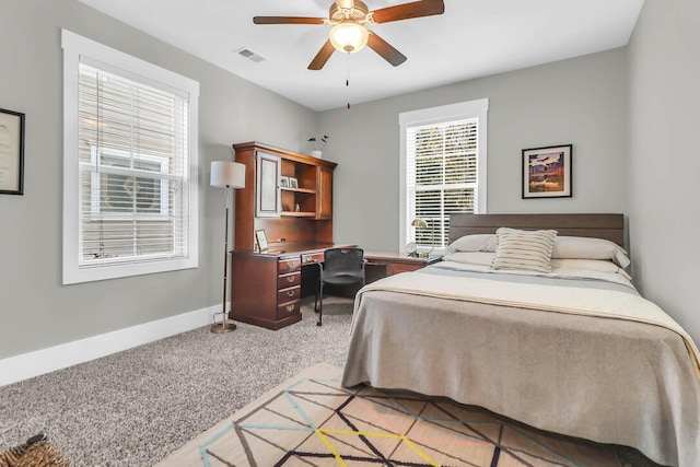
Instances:
[[[646,0],[628,54],[634,277],[700,341],[700,2]]]

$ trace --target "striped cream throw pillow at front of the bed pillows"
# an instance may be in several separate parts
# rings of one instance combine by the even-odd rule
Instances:
[[[491,269],[551,271],[551,250],[557,231],[521,231],[500,227],[495,231],[499,246]]]

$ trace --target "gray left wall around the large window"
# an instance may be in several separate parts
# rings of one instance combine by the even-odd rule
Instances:
[[[315,113],[74,0],[0,0],[0,108],[26,114],[25,195],[0,195],[0,359],[221,303],[223,192],[234,142],[291,150]],[[61,285],[65,27],[200,83],[199,268]]]

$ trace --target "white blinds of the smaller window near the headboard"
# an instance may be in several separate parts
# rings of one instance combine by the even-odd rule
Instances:
[[[475,212],[478,126],[474,118],[407,130],[409,218],[428,223],[413,230],[419,246],[447,246],[450,214]]]

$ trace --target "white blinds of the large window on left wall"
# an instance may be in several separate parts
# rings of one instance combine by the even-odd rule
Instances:
[[[80,63],[81,267],[187,255],[187,101]]]

